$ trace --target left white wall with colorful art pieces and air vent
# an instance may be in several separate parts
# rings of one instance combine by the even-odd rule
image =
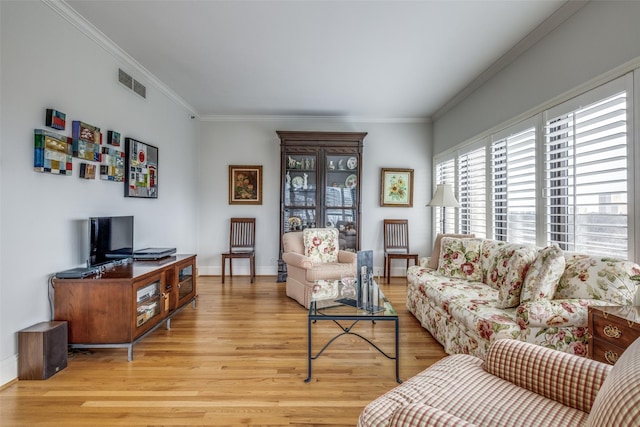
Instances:
[[[136,246],[198,249],[199,123],[41,2],[0,2],[0,384],[17,376],[17,331],[52,316],[47,279],[81,265],[89,216],[134,215]],[[142,99],[117,82],[118,68],[147,86]],[[33,171],[33,130],[46,108],[123,138],[159,147],[159,198],[124,197],[122,183]],[[52,129],[51,129],[52,130]],[[80,225],[81,224],[81,225]]]

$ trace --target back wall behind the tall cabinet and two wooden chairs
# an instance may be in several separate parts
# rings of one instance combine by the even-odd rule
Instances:
[[[374,250],[374,263],[382,268],[382,220],[407,218],[411,249],[421,256],[431,252],[431,210],[425,206],[432,193],[430,123],[356,123],[299,118],[204,121],[200,150],[200,274],[221,273],[220,254],[228,249],[232,216],[256,217],[256,274],[276,274],[280,239],[280,139],[276,130],[368,132],[364,139],[360,183],[361,249]],[[262,205],[228,204],[229,165],[263,165]],[[414,169],[413,208],[380,207],[381,168]],[[248,262],[236,261],[234,271],[248,274]],[[402,272],[404,268],[398,264],[394,274]]]

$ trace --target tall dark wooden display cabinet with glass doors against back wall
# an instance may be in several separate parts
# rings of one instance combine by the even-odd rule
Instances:
[[[360,250],[362,149],[366,132],[277,131],[280,137],[280,235],[336,227],[342,250]],[[286,280],[282,239],[278,282]]]

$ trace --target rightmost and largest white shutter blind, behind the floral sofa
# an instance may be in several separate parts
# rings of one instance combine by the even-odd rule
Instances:
[[[579,101],[545,114],[547,239],[564,250],[627,258],[626,91]]]

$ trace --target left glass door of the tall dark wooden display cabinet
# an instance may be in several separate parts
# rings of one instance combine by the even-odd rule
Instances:
[[[284,180],[284,232],[317,224],[318,156],[291,154],[286,158]]]

